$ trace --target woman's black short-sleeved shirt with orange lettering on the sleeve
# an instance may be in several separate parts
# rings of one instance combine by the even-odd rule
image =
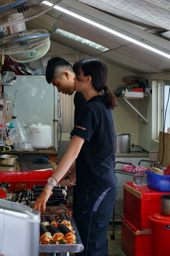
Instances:
[[[102,96],[94,96],[81,108],[71,131],[74,134],[85,139],[76,159],[77,188],[94,191],[96,184],[104,189],[113,186],[114,124]]]

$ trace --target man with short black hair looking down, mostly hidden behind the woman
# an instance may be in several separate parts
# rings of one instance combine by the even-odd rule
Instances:
[[[45,78],[48,84],[52,83],[57,87],[57,90],[62,93],[72,95],[74,93],[74,72],[71,64],[63,58],[54,57],[47,63]],[[77,120],[80,108],[85,105],[86,99],[82,93],[76,92],[74,96],[74,123]],[[73,188],[73,211],[76,212],[76,166],[75,162],[70,167],[71,175],[69,179],[63,180],[62,185],[70,189]],[[75,218],[75,214],[74,214]]]

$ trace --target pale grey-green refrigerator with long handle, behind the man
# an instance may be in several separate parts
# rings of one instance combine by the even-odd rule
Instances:
[[[14,116],[27,126],[50,125],[53,146],[59,154],[62,135],[62,108],[56,87],[48,84],[45,76],[17,76],[11,86],[3,86],[3,92],[14,106]],[[12,121],[11,121],[12,122]]]

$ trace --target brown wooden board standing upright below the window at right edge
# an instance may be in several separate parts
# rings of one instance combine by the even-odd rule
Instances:
[[[162,161],[163,149],[164,159]],[[162,167],[167,167],[170,164],[170,134],[163,131],[159,132],[158,162]]]

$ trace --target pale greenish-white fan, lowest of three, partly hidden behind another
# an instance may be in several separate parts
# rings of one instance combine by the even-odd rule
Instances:
[[[28,52],[11,54],[9,55],[9,57],[13,61],[17,61],[20,63],[32,62],[42,58],[42,56],[44,56],[48,52],[49,48],[50,48],[50,40],[48,40],[48,42],[43,44],[42,46],[37,47],[36,49],[30,50]]]

